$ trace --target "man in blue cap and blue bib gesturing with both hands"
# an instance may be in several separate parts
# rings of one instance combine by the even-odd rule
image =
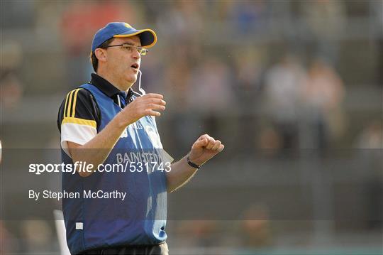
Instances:
[[[96,74],[89,83],[69,92],[61,104],[57,125],[63,161],[93,166],[62,175],[63,190],[84,194],[66,198],[62,204],[72,254],[167,254],[167,192],[187,183],[224,148],[221,141],[204,134],[176,163],[170,165],[172,158],[160,152],[155,116],[165,110],[163,96],[143,93],[137,97],[131,88],[141,55],[156,41],[154,31],[135,30],[127,23],[113,22],[101,28],[91,45]],[[148,156],[148,151],[155,152],[150,154],[157,164],[153,171],[148,171],[148,160],[136,162],[140,156]],[[116,163],[128,170],[106,173],[96,168]],[[163,170],[162,163],[169,167]],[[88,190],[110,196],[94,199],[87,196]],[[112,197],[116,192],[128,195]]]

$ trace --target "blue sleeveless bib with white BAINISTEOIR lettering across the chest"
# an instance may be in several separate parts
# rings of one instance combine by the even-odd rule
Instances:
[[[99,132],[122,109],[94,85],[85,84],[81,88],[91,92],[98,104]],[[72,163],[63,151],[62,160]],[[79,198],[62,201],[67,244],[72,254],[111,246],[160,244],[167,239],[167,183],[162,170],[165,166],[160,166],[165,162],[152,116],[144,116],[121,134],[104,166],[116,163],[122,164],[125,172],[95,172],[87,178],[78,173],[62,174],[62,190],[80,194]],[[124,200],[84,197],[84,192],[98,190],[127,192],[127,195]]]

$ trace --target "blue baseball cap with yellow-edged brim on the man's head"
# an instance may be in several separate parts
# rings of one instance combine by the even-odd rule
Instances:
[[[91,43],[91,52],[94,53],[96,48],[99,48],[102,43],[104,43],[106,40],[109,40],[110,38],[131,36],[138,36],[141,41],[141,46],[145,48],[150,48],[155,45],[155,43],[157,43],[157,36],[151,29],[137,30],[128,23],[111,22],[104,26],[104,28],[101,28],[99,31],[97,31],[97,33],[94,35],[93,41]]]

